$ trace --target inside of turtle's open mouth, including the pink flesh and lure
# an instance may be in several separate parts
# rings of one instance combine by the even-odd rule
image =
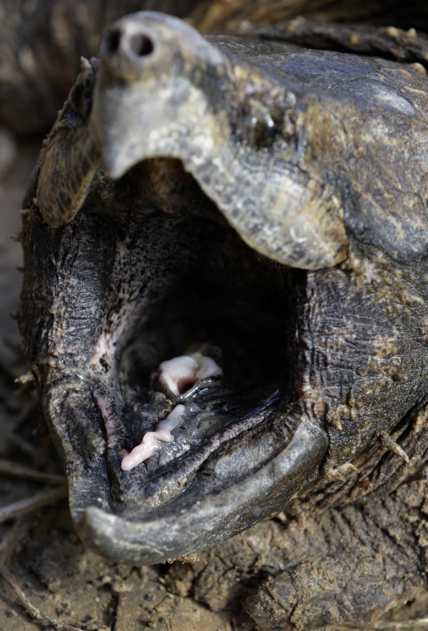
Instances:
[[[158,504],[159,476],[171,478],[162,502],[172,500],[183,491],[174,478],[187,487],[202,465],[208,476],[214,451],[250,428],[262,432],[290,403],[292,271],[248,247],[182,177],[187,197],[202,207],[146,210],[119,241],[91,360],[119,512],[136,488],[136,510]],[[229,460],[228,475],[239,478]]]

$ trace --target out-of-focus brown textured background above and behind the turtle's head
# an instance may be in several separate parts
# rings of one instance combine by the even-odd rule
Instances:
[[[228,3],[223,0],[209,0],[209,3],[201,0],[122,0],[120,3],[115,0],[1,0],[0,121],[20,136],[46,133],[74,83],[81,55],[89,58],[95,54],[101,32],[112,21],[142,9],[165,11],[181,18],[188,16],[190,23],[203,33],[224,33],[237,28],[245,31],[250,23],[265,25],[299,16],[316,21],[369,21],[420,30],[427,30],[428,22],[427,9],[417,1],[404,5],[389,0],[377,3],[368,0],[359,3],[344,0],[333,3],[330,0],[285,3],[275,0]],[[355,33],[351,35],[355,40]],[[391,40],[394,37],[391,36]],[[313,32],[310,38],[315,39]],[[303,43],[308,45],[308,38],[304,38]],[[402,47],[394,45],[392,49],[400,49],[407,56],[412,50],[411,42],[405,42]],[[391,42],[383,50],[389,52]]]

